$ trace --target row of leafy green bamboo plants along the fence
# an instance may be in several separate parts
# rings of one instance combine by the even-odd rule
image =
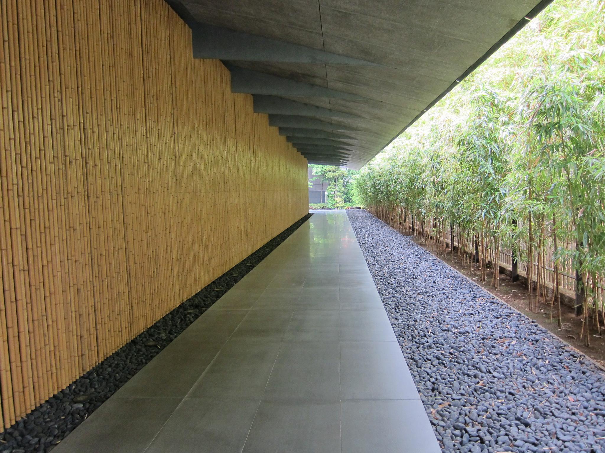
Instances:
[[[356,179],[373,212],[479,251],[494,286],[517,257],[530,309],[576,291],[587,345],[605,323],[604,4],[553,2]]]

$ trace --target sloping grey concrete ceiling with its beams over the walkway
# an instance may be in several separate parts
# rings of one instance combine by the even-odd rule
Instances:
[[[359,169],[551,0],[167,1],[310,163]]]

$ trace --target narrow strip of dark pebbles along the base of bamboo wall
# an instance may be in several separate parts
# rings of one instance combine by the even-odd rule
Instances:
[[[307,214],[293,223],[67,388],[0,432],[0,452],[51,451],[310,216]]]

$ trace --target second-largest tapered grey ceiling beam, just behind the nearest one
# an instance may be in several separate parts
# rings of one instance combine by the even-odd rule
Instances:
[[[239,66],[226,65],[231,71],[231,91],[234,93],[267,94],[276,96],[322,97],[332,99],[363,100],[363,96],[310,83],[296,82],[285,77],[272,76]]]

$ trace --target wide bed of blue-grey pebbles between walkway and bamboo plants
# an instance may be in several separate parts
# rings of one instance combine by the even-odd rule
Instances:
[[[348,218],[445,452],[605,452],[605,373],[365,210]]]

